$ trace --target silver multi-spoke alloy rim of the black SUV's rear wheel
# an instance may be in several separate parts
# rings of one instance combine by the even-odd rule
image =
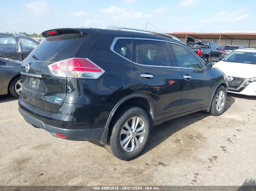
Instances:
[[[139,148],[145,137],[145,122],[138,116],[128,119],[121,129],[120,145],[126,152]]]

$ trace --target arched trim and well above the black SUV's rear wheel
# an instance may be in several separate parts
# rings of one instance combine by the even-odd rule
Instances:
[[[108,117],[105,129],[109,128],[111,120],[113,119],[113,116],[124,105],[132,105],[132,106],[140,107],[143,110],[145,110],[145,112],[149,116],[151,126],[153,126],[153,122],[155,120],[155,106],[153,101],[144,94],[131,94],[121,99],[112,109]]]

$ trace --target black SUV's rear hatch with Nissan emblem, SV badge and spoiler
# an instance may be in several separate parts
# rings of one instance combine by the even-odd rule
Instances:
[[[53,76],[48,65],[68,58],[86,58],[98,33],[95,29],[55,29],[42,34],[47,38],[22,63],[21,96],[33,107],[56,113],[66,96],[66,77]]]

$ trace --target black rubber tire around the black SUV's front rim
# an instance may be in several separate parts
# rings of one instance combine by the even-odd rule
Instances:
[[[223,102],[222,109],[220,111],[218,111],[217,108],[216,108],[216,102],[217,102],[216,98],[217,98],[220,91],[223,91],[223,93],[224,93],[224,102]],[[211,108],[210,108],[210,111],[208,113],[210,115],[213,115],[213,116],[221,115],[225,110],[226,103],[227,103],[227,91],[226,91],[226,88],[224,86],[220,85],[218,87],[218,89],[216,90],[215,94],[214,94],[214,97],[213,97],[212,102],[211,102]]]

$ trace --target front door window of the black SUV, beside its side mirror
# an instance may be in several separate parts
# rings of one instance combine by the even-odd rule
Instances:
[[[172,44],[174,55],[176,56],[176,63],[178,67],[182,68],[202,68],[200,60],[191,53],[188,49],[178,44]]]

